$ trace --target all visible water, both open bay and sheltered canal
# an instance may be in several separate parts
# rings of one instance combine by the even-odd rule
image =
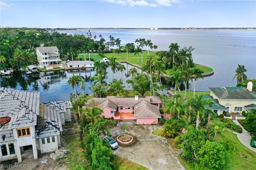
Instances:
[[[78,33],[86,35],[87,30],[61,30],[59,32]],[[233,81],[237,64],[245,65],[249,79],[256,78],[256,32],[255,30],[91,30],[93,35],[102,35],[108,39],[109,35],[120,38],[122,43],[131,43],[137,38],[151,39],[158,46],[157,50],[167,50],[171,43],[178,43],[181,47],[193,46],[194,62],[210,66],[214,75],[196,81],[196,90],[209,91],[208,87],[236,86]],[[124,64],[130,70],[133,66]],[[112,80],[112,72],[108,68],[107,82]],[[126,71],[125,71],[126,72]],[[126,89],[131,89],[123,81]],[[36,90],[40,92],[41,102],[69,100],[73,89],[67,84],[68,78],[80,74],[89,78],[94,71],[58,71],[26,75],[15,73],[10,77],[0,77],[0,86],[18,90]],[[46,79],[45,79],[46,78]],[[121,72],[114,74],[120,79]],[[91,82],[87,81],[85,92],[92,94],[89,89]],[[192,83],[193,85],[193,83]],[[79,87],[76,88],[80,91]],[[193,86],[190,86],[193,90]]]

